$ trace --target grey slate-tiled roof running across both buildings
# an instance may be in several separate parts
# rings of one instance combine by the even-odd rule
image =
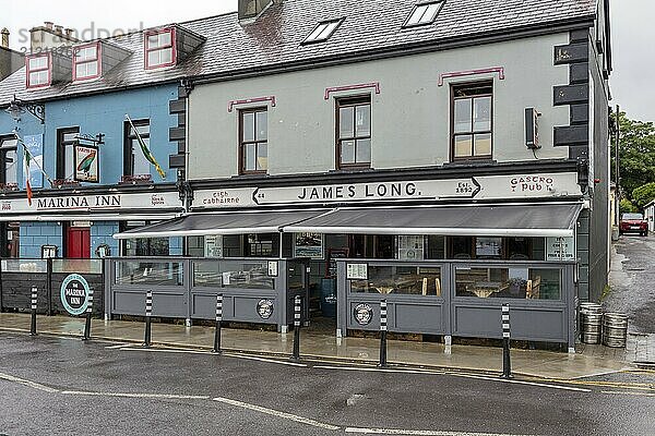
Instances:
[[[144,70],[143,33],[114,37],[112,44],[132,55],[99,80],[26,90],[23,68],[0,82],[0,105],[7,105],[14,94],[26,100],[68,98],[183,77],[228,76],[376,50],[479,38],[573,20],[591,21],[595,16],[595,0],[446,0],[434,23],[403,28],[416,3],[417,0],[285,0],[271,5],[250,24],[239,24],[236,12],[180,23],[207,39],[178,65],[164,70]],[[327,41],[302,45],[319,22],[341,17],[345,17],[344,22]]]

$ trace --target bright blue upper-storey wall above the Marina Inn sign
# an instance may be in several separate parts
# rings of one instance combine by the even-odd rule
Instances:
[[[71,85],[74,86],[74,85]],[[35,93],[37,97],[38,92]],[[117,184],[123,175],[123,122],[126,113],[132,120],[148,119],[151,123],[151,150],[166,172],[167,182],[176,181],[176,171],[168,169],[168,156],[177,154],[177,143],[168,141],[169,128],[177,126],[177,117],[168,113],[168,104],[177,99],[177,85],[153,86],[143,89],[100,94],[46,102],[46,123],[24,113],[15,122],[0,111],[0,135],[17,129],[19,135],[44,134],[44,169],[51,179],[57,178],[57,130],[79,126],[81,134],[105,134],[100,147],[100,185]],[[20,150],[22,158],[22,150]],[[22,167],[19,185],[23,186]],[[164,181],[154,167],[151,174],[155,183]],[[87,183],[83,183],[87,185]],[[46,182],[47,186],[48,183]],[[91,183],[93,185],[93,183]],[[49,186],[48,186],[49,187]]]

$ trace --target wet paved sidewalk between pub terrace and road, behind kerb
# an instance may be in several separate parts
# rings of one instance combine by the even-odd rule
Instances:
[[[57,336],[81,336],[83,318],[39,316],[37,331]],[[28,314],[0,314],[0,331],[29,331]],[[94,319],[92,337],[112,341],[143,342],[144,324],[138,322],[105,322]],[[379,340],[343,338],[302,331],[301,356],[325,360],[377,362]],[[183,325],[152,325],[153,344],[211,349],[214,328]],[[294,335],[275,331],[223,329],[222,348],[264,354],[290,354]],[[597,354],[597,353],[596,353]],[[451,346],[430,342],[389,341],[390,364],[403,363],[454,370],[484,372],[502,371],[502,350],[495,347]],[[541,378],[572,379],[630,367],[618,356],[594,353],[558,353],[537,350],[512,350],[512,372]]]

